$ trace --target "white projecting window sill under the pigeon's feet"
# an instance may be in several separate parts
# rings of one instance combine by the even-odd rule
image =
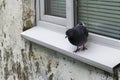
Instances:
[[[43,45],[110,73],[113,73],[113,68],[120,63],[120,50],[118,49],[88,41],[88,50],[73,53],[76,47],[65,39],[65,34],[57,33],[44,27],[45,26],[33,27],[22,32],[21,35],[25,39],[39,45]]]

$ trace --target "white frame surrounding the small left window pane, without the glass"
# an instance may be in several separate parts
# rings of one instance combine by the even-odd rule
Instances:
[[[44,7],[44,0],[38,0],[38,3],[40,4],[39,8],[39,15],[41,21],[47,21],[51,23],[55,23],[58,25],[62,25],[64,27],[72,28],[74,26],[74,12],[73,12],[73,0],[66,0],[66,18],[52,16],[52,15],[46,15],[45,14],[45,7]],[[39,24],[39,23],[38,23]]]

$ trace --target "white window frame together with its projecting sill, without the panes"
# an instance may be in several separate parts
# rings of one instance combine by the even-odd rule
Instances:
[[[74,26],[73,0],[66,0],[66,3],[69,3],[66,4],[66,19],[45,15],[42,10],[44,5],[40,3],[40,1],[43,2],[44,0],[36,1],[37,27],[22,32],[21,35],[24,38],[113,73],[116,65],[120,64],[120,40],[89,33],[88,50],[74,54],[73,50],[76,47],[65,39],[65,31]],[[51,19],[55,19],[55,22],[51,22]],[[64,22],[56,19],[65,20],[66,23],[63,25]]]

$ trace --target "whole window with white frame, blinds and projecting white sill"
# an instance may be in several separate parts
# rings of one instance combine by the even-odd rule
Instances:
[[[37,25],[21,33],[24,38],[113,73],[120,63],[119,0],[36,1]],[[88,50],[74,54],[65,31],[79,22],[91,33]]]

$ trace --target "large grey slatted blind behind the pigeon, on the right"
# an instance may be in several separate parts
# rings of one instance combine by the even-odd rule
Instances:
[[[120,0],[78,0],[77,11],[90,32],[120,39]]]

